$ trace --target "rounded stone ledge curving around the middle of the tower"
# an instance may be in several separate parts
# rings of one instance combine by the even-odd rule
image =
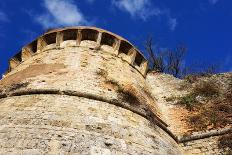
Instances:
[[[175,135],[172,134],[172,132],[167,128],[167,124],[163,122],[150,108],[143,104],[139,108],[138,107],[133,107],[129,103],[126,103],[124,101],[120,100],[110,100],[107,98],[104,98],[99,95],[93,95],[89,93],[83,93],[83,92],[77,92],[77,91],[61,91],[58,89],[30,89],[30,90],[18,90],[14,92],[9,92],[9,93],[0,93],[0,99],[7,98],[7,97],[12,97],[12,96],[23,96],[23,95],[39,95],[39,94],[56,94],[56,95],[68,95],[68,96],[78,96],[78,97],[84,97],[88,99],[93,99],[97,101],[102,101],[102,102],[107,102],[109,104],[113,104],[119,107],[122,107],[124,109],[130,110],[147,120],[151,122],[151,124],[159,126],[161,129],[163,129],[166,133],[168,133],[175,141],[177,141],[177,138]]]

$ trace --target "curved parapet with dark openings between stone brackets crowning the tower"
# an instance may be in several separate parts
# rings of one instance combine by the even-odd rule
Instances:
[[[67,27],[51,30],[24,46],[19,53],[10,59],[9,70],[5,74],[8,74],[23,61],[26,61],[35,54],[49,49],[69,46],[101,49],[122,58],[143,76],[147,73],[148,61],[126,39],[95,27]]]

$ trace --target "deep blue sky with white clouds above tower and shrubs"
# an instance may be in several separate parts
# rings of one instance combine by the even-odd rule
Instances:
[[[149,35],[160,48],[184,43],[185,65],[220,63],[232,71],[231,0],[1,0],[0,74],[47,28],[75,25],[107,29],[141,51]]]

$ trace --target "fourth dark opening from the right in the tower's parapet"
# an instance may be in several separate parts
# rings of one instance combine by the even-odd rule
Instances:
[[[97,38],[98,38],[98,31],[96,30],[92,30],[92,29],[83,29],[81,30],[81,34],[82,34],[82,40],[91,40],[91,41],[96,41],[97,42]]]

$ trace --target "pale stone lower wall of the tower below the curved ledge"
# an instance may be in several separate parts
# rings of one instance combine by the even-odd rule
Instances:
[[[2,154],[179,154],[159,127],[112,104],[66,95],[15,96],[0,103]]]

